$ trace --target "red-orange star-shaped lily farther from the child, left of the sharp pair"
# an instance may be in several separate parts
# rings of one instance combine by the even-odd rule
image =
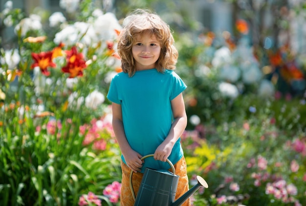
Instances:
[[[56,67],[56,64],[52,62],[52,55],[53,52],[51,51],[41,52],[39,54],[32,53],[32,58],[35,62],[31,65],[31,68],[33,69],[34,67],[38,66],[45,76],[49,76],[50,72],[47,70],[47,68]]]

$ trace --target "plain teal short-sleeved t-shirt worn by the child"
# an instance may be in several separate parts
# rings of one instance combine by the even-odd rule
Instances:
[[[167,137],[173,114],[171,100],[186,89],[186,84],[172,70],[164,73],[156,69],[137,71],[132,77],[118,73],[111,81],[107,98],[121,104],[125,134],[131,148],[142,156],[153,154]],[[180,139],[175,143],[169,160],[175,164],[183,156]],[[125,163],[124,157],[122,160]],[[144,160],[145,167],[169,169],[166,162],[153,157]]]

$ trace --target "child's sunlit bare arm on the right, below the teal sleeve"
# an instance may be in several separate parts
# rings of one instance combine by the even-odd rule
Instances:
[[[170,128],[168,136],[160,144],[154,152],[154,159],[166,162],[171,154],[172,148],[178,138],[184,132],[187,126],[187,115],[185,110],[185,103],[183,94],[180,93],[175,99],[171,101],[174,122]]]

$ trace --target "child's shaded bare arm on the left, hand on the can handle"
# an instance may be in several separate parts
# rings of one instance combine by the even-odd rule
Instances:
[[[142,167],[142,156],[134,151],[125,135],[123,122],[122,122],[122,110],[121,105],[117,103],[111,104],[112,108],[112,127],[116,136],[116,140],[119,144],[120,150],[124,156],[127,165],[133,170],[133,172],[140,171]]]

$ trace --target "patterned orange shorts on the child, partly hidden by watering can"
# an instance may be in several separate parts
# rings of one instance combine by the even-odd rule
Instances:
[[[185,158],[182,157],[175,165],[175,174],[179,176],[175,200],[181,197],[189,189],[189,182],[187,176],[187,166]],[[135,201],[132,197],[131,188],[130,188],[130,174],[131,169],[121,161],[122,169],[122,181],[121,181],[121,196],[120,196],[120,206],[133,206]],[[169,171],[172,169],[170,168]],[[143,177],[143,173],[133,172],[132,183],[135,191],[135,196],[140,187],[140,183]],[[181,206],[191,206],[190,198],[188,198]]]

